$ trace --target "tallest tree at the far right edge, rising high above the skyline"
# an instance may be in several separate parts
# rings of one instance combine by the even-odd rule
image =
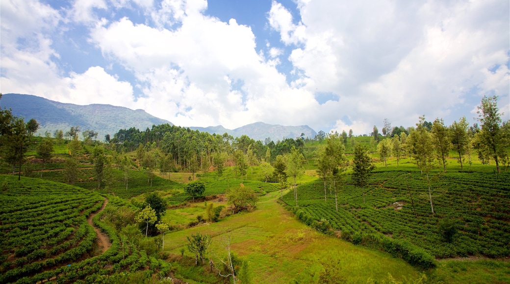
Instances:
[[[496,170],[500,173],[498,158],[506,156],[505,147],[502,144],[501,116],[498,108],[498,96],[483,96],[478,108],[478,117],[481,122],[480,140],[487,153],[494,159]]]

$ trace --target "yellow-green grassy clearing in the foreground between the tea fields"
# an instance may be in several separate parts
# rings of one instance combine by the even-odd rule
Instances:
[[[210,257],[224,255],[221,243],[231,237],[232,250],[249,262],[255,283],[289,281],[317,282],[324,266],[337,263],[347,282],[385,279],[414,279],[420,272],[389,254],[366,249],[320,234],[299,222],[276,203],[278,192],[261,197],[257,209],[227,217],[220,222],[196,226],[165,235],[165,250],[180,254],[186,236],[200,232],[213,237]],[[201,205],[201,204],[200,204]],[[171,216],[169,210],[167,214]],[[165,216],[166,218],[166,216]],[[187,250],[185,255],[193,257]],[[338,262],[336,262],[338,260]]]

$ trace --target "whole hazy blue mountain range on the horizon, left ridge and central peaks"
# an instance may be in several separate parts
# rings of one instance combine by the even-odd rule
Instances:
[[[4,94],[0,101],[2,108],[12,109],[14,116],[23,117],[25,122],[35,119],[40,125],[38,134],[55,130],[68,131],[71,126],[80,126],[82,131],[90,129],[98,133],[98,139],[103,140],[106,134],[117,133],[119,129],[131,127],[145,130],[152,125],[160,125],[171,122],[149,115],[145,110],[113,106],[109,104],[77,105],[61,103],[33,95]],[[304,133],[305,137],[313,138],[317,132],[307,125],[282,126],[271,125],[262,122],[248,124],[234,130],[223,126],[190,127],[198,131],[211,134],[228,133],[233,137],[248,135],[255,140],[264,141],[270,137],[275,142],[284,138],[296,138]]]

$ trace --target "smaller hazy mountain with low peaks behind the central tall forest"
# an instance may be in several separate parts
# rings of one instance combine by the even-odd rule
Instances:
[[[271,138],[273,141],[283,140],[285,138],[296,138],[301,136],[301,133],[304,133],[304,137],[314,138],[317,135],[317,132],[313,130],[308,125],[301,126],[283,126],[283,125],[273,125],[267,124],[263,122],[256,122],[252,124],[248,124],[245,126],[241,126],[234,130],[226,129],[223,126],[210,126],[210,127],[190,127],[190,129],[198,129],[198,131],[209,132],[211,134],[223,134],[228,133],[233,137],[240,137],[241,135],[248,135],[250,138],[254,140],[264,141],[267,137]]]

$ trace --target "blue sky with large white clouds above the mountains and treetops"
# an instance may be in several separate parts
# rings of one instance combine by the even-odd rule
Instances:
[[[2,0],[0,91],[183,127],[510,118],[510,2]]]

